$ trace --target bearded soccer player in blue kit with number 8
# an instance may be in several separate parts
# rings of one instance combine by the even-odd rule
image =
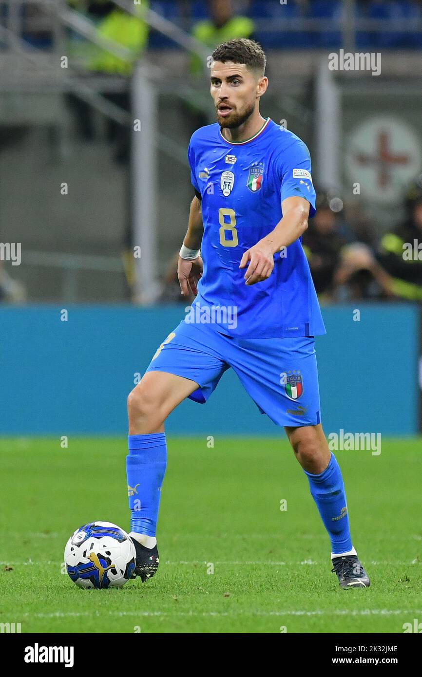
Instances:
[[[287,433],[329,533],[339,584],[367,587],[341,471],[320,422],[314,336],[325,328],[301,244],[315,213],[310,154],[259,112],[268,79],[258,43],[232,40],[212,58],[217,123],[190,139],[194,198],[178,265],[182,294],[192,290],[196,299],[128,399],[135,573],[145,581],[159,565],[165,419],[185,397],[207,401],[231,367],[259,411]]]

